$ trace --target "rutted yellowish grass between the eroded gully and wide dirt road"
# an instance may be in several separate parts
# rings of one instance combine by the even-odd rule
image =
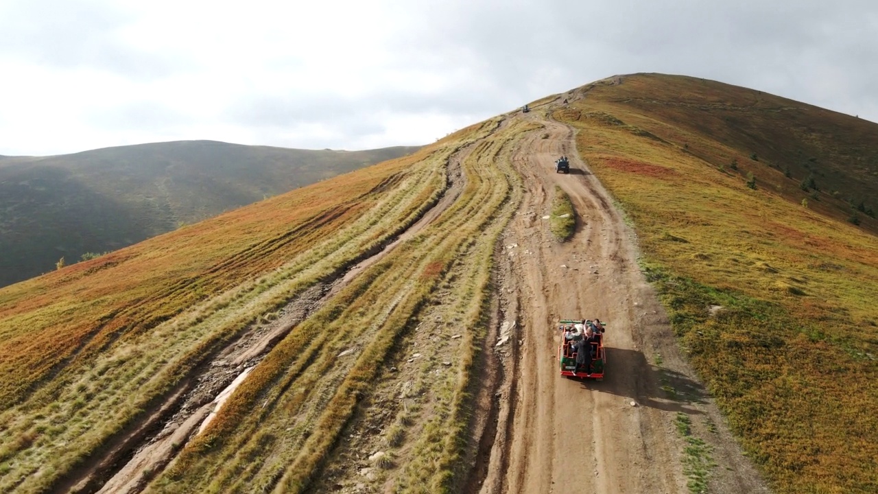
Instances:
[[[486,137],[482,127],[462,135],[464,141]],[[509,193],[515,178],[508,163],[495,158],[515,135],[509,130],[477,144],[479,151],[464,161],[466,185],[460,198],[277,345],[205,433],[184,449],[175,468],[158,477],[156,489],[240,490],[248,485],[305,490],[363,396],[374,388],[394,343],[411,331],[436,287],[454,271],[458,301],[453,306],[462,312],[466,331],[455,360],[458,370],[442,384],[447,399],[434,403],[434,412],[442,411],[431,415],[446,418],[439,463],[418,472],[431,476],[432,485],[449,484],[468,424],[463,390],[470,384],[471,353],[485,331],[481,310],[493,243],[514,207]],[[459,259],[467,259],[463,271],[452,269]],[[356,358],[337,359],[353,341],[362,347]]]

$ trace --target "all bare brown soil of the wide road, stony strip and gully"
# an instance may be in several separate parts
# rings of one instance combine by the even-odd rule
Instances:
[[[495,251],[492,329],[477,362],[481,374],[475,381],[479,388],[471,393],[473,440],[463,462],[468,471],[459,475],[460,490],[687,492],[684,442],[674,425],[683,413],[691,419],[694,435],[712,447],[718,466],[710,473],[711,492],[767,492],[687,367],[666,313],[638,269],[636,236],[579,158],[572,128],[546,117],[546,108],[559,105],[560,99],[512,117],[545,128],[524,134],[512,156],[524,183],[524,199]],[[150,475],[165,468],[197,433],[215,408],[215,398],[236,376],[258,363],[327,297],[457,199],[464,187],[459,163],[473,149],[477,147],[461,149],[450,160],[449,188],[421,221],[385,251],[338,280],[313,287],[274,315],[273,322],[254,327],[220,352],[173,397],[174,406],[163,409],[169,411],[154,422],[154,432],[117,459],[117,467],[104,465],[101,475],[111,478],[97,482],[95,474],[79,486],[102,492],[142,490]],[[561,155],[570,159],[570,174],[554,171],[554,160]],[[565,243],[551,236],[543,218],[550,214],[555,185],[570,195],[577,213],[575,235]],[[442,299],[441,290],[435,297]],[[447,372],[444,366],[450,362],[443,349],[453,348],[460,336],[440,314],[439,309],[425,309],[418,328],[398,342],[389,370],[363,398],[310,491],[394,489],[372,459],[386,449],[385,432],[402,412],[413,424],[406,432],[410,438],[419,434],[421,418],[430,414],[428,404],[414,406],[421,382]],[[607,325],[604,381],[561,377],[558,320],[594,317]],[[396,451],[399,459],[409,453],[406,444]]]

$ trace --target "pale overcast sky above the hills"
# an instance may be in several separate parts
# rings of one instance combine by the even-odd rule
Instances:
[[[878,121],[878,2],[0,0],[0,155],[425,144],[633,72]]]

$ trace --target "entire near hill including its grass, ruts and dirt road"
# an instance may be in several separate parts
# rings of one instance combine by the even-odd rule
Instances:
[[[0,289],[0,490],[874,491],[874,223],[747,91],[614,77]],[[821,167],[876,126],[801,106],[873,190]]]

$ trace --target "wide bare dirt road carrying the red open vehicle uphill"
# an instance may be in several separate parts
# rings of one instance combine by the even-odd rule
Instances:
[[[673,420],[677,412],[722,419],[689,377],[666,314],[638,270],[633,232],[579,158],[572,129],[540,112],[523,118],[545,129],[524,137],[513,155],[525,194],[498,265],[512,273],[501,277],[501,292],[507,319],[517,319],[518,358],[504,362],[498,432],[481,492],[687,492]],[[561,155],[570,158],[569,175],[555,173]],[[555,185],[578,215],[567,243],[554,240],[543,219]],[[558,320],[579,317],[608,322],[604,381],[558,374]],[[664,370],[650,365],[645,345],[647,354],[661,353]],[[663,382],[686,389],[689,399],[666,398]],[[763,491],[728,432],[720,426],[713,435],[719,468],[711,491]]]

